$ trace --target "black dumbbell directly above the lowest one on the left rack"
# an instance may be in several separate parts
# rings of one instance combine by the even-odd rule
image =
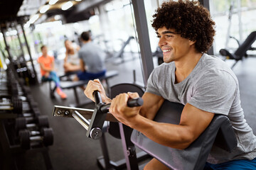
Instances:
[[[23,129],[41,129],[41,128],[49,128],[48,116],[47,115],[38,115],[37,118],[33,117],[21,117],[16,118],[15,120],[15,129],[23,130]]]

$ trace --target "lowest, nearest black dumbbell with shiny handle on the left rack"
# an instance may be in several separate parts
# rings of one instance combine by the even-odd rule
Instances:
[[[41,131],[29,131],[27,129],[18,132],[21,148],[30,149],[43,143],[45,147],[53,145],[53,129],[42,128]]]

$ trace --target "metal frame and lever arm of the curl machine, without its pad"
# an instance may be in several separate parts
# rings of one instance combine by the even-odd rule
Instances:
[[[123,85],[123,86],[122,86]],[[137,91],[137,89],[140,89],[140,96],[142,96],[143,91],[142,89],[134,84],[117,84],[117,86],[121,86],[121,89],[125,86],[131,89],[131,86],[134,89],[131,89],[132,91]],[[111,87],[111,89],[113,89]],[[54,116],[60,116],[60,117],[66,117],[66,118],[76,118],[78,122],[81,123],[85,129],[87,129],[87,137],[91,137],[93,139],[100,139],[100,145],[102,147],[102,156],[97,158],[97,163],[99,164],[101,169],[123,169],[127,167],[127,169],[138,169],[138,161],[145,159],[146,157],[149,157],[145,152],[139,152],[136,153],[134,145],[129,140],[130,133],[127,130],[127,126],[122,125],[122,123],[119,123],[112,114],[105,113],[105,109],[109,108],[109,104],[105,105],[105,103],[100,104],[101,98],[98,98],[100,94],[98,92],[95,93],[95,110],[92,109],[84,109],[84,108],[70,108],[65,106],[55,106],[53,110]],[[100,99],[100,100],[98,100]],[[127,105],[130,106],[141,106],[143,103],[142,98],[137,98],[133,100],[129,100]],[[102,113],[103,111],[103,113]],[[77,113],[80,113],[77,114]],[[91,119],[90,122],[87,121],[87,119]],[[82,121],[81,121],[82,120]],[[113,162],[110,160],[110,157],[108,155],[107,151],[107,144],[105,140],[105,129],[106,127],[102,127],[104,121],[110,121],[110,127],[108,128],[108,132],[114,130],[114,132],[110,132],[110,135],[113,137],[116,137],[114,133],[118,133],[119,137],[116,137],[118,139],[122,140],[122,149],[124,151],[124,157],[125,159],[121,159],[117,162]],[[113,125],[114,124],[114,125]],[[112,128],[111,128],[112,127]],[[129,128],[130,129],[130,128]],[[121,135],[121,136],[120,136]],[[146,154],[146,155],[145,155]]]

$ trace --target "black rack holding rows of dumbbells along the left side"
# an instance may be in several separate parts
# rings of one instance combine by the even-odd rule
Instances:
[[[30,89],[17,79],[14,79],[14,74],[16,73],[11,72],[10,69],[0,70],[0,169],[18,169],[17,158],[22,157],[27,152],[29,154],[40,152],[43,155],[46,169],[53,169],[48,155],[48,147],[43,142],[33,142],[36,145],[30,144],[33,139],[41,139],[40,136],[29,136],[29,133],[40,133],[40,131],[52,133],[51,128],[41,128],[40,130],[36,122],[32,122],[29,125],[25,123],[27,125],[26,128],[30,128],[33,125],[33,129],[20,130],[25,131],[25,135],[28,135],[23,135],[23,140],[21,140],[22,137],[20,135],[22,132],[18,132],[19,129],[17,130],[17,120],[29,115],[31,117],[28,117],[27,120],[32,121],[33,118],[38,120],[41,115],[37,103],[33,101]],[[4,108],[7,109],[4,110]],[[43,121],[43,124],[47,126],[46,120],[43,119]],[[19,126],[22,127],[21,125]],[[51,141],[47,140],[48,145],[53,145],[53,134],[51,136]],[[26,139],[25,143],[24,139]]]

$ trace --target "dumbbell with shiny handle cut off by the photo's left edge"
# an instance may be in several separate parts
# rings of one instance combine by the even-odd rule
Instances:
[[[20,98],[12,97],[9,98],[0,98],[0,111],[12,110],[14,113],[22,113],[23,103]]]

